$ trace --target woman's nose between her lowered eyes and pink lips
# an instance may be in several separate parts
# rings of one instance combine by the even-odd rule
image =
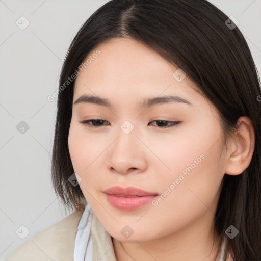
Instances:
[[[147,168],[146,146],[133,130],[129,134],[118,132],[118,137],[108,150],[107,167],[118,174],[144,172]],[[147,149],[148,150],[148,149]]]

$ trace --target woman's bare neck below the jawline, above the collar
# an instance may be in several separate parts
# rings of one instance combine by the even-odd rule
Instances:
[[[216,261],[221,238],[214,231],[213,220],[213,213],[206,211],[200,220],[161,238],[143,242],[113,238],[115,257],[117,261]]]

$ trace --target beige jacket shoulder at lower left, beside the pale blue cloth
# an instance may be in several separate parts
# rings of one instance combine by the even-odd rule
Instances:
[[[77,226],[83,212],[74,211],[61,221],[35,234],[6,261],[73,260]]]

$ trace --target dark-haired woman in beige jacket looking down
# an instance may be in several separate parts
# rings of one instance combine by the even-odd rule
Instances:
[[[260,100],[212,4],[106,3],[60,77],[52,178],[74,212],[7,260],[261,260]]]

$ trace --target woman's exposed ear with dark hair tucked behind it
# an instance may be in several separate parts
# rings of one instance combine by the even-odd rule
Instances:
[[[250,164],[255,146],[255,133],[252,121],[242,116],[237,122],[238,131],[230,145],[225,173],[241,174]]]

